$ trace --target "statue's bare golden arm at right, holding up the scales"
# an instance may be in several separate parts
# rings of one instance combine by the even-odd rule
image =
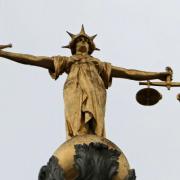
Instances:
[[[139,71],[134,69],[125,69],[116,66],[112,66],[111,76],[115,78],[126,78],[131,80],[151,80],[151,79],[160,79],[165,81],[167,76],[170,75],[169,72],[147,72]]]

